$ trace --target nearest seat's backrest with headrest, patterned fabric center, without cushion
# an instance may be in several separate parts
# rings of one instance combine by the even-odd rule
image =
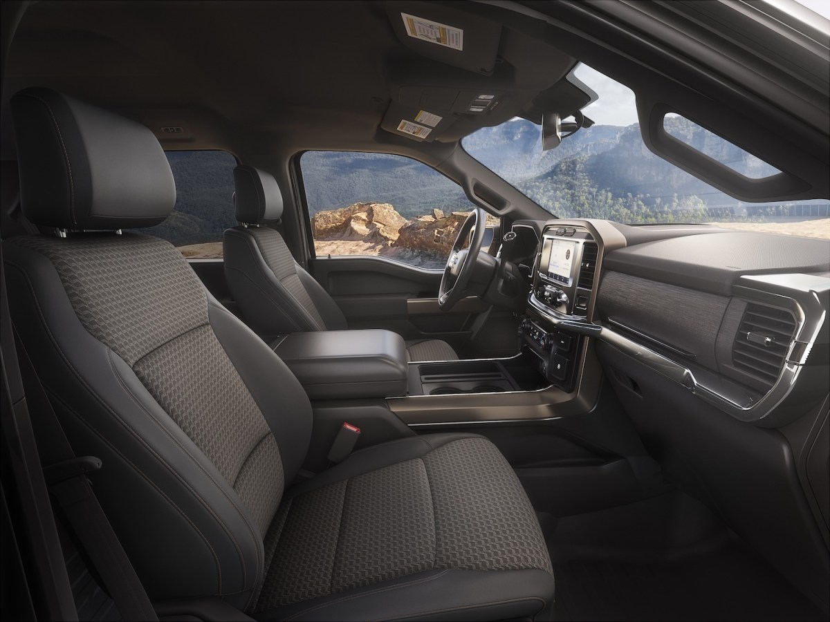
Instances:
[[[12,114],[27,217],[81,230],[4,246],[22,343],[76,454],[103,460],[95,490],[149,595],[244,608],[305,457],[305,392],[168,242],[82,231],[172,210],[149,129],[45,89]]]

